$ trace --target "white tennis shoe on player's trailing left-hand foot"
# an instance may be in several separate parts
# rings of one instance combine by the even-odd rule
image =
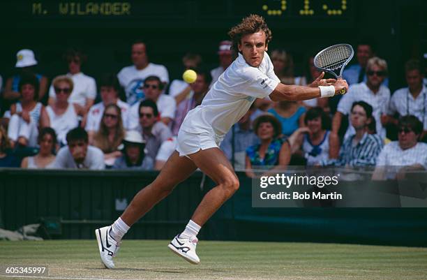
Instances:
[[[105,226],[95,230],[100,258],[103,265],[105,265],[105,268],[114,268],[114,262],[112,258],[117,256],[121,244],[121,242],[116,242],[116,240],[110,236],[110,231],[111,226]]]

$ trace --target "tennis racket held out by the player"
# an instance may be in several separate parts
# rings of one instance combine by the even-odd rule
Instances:
[[[352,60],[353,55],[354,50],[351,45],[331,45],[316,54],[314,64],[320,71],[330,73],[338,79],[343,75],[344,68]],[[345,94],[345,91],[341,89],[340,94]]]

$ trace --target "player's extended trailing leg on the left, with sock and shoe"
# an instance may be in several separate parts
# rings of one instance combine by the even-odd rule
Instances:
[[[95,231],[100,257],[105,267],[114,268],[112,258],[119,251],[121,238],[130,226],[149,212],[157,202],[169,195],[177,184],[187,179],[196,169],[193,161],[179,157],[178,152],[174,152],[158,177],[137,193],[121,217],[112,226],[98,228]]]

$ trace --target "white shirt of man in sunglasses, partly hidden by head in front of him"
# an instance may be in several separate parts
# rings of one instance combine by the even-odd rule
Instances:
[[[141,101],[135,103],[130,107],[127,125],[127,128],[129,130],[135,130],[140,125],[140,114],[138,112],[138,108],[140,108],[140,103]],[[160,118],[170,117],[171,119],[174,119],[175,110],[177,110],[177,101],[175,101],[175,98],[165,94],[160,94],[160,96],[158,96],[156,105]]]

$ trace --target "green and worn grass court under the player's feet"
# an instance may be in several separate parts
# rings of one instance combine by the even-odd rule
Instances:
[[[48,265],[36,279],[427,279],[427,248],[202,240],[191,265],[168,242],[124,240],[116,270],[102,268],[95,239],[0,242],[0,265]]]

